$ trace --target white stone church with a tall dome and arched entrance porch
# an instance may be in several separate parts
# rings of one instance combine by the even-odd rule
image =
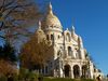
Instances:
[[[71,31],[63,30],[60,21],[53,14],[51,3],[46,14],[39,24],[37,32],[43,32],[49,41],[53,43],[53,57],[43,69],[45,76],[59,78],[96,78],[103,73],[94,67],[86,50],[83,46],[82,38],[76,33],[75,27]],[[40,36],[41,37],[41,36]]]

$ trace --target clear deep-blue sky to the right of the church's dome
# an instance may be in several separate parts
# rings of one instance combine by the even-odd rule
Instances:
[[[53,11],[63,27],[71,29],[83,39],[84,48],[96,66],[108,73],[108,0],[39,0],[52,2]]]

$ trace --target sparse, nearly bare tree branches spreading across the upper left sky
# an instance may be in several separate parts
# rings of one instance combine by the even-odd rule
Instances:
[[[13,43],[31,33],[27,28],[40,18],[33,0],[0,0],[0,38]]]

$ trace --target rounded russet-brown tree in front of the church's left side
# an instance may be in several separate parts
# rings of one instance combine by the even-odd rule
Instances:
[[[30,70],[40,70],[50,60],[53,46],[44,38],[43,31],[40,29],[24,44],[21,52],[21,66]]]

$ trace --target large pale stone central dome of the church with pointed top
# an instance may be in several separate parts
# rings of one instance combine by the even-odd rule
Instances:
[[[42,21],[42,28],[48,28],[48,27],[55,27],[62,29],[62,24],[59,19],[53,14],[52,11],[52,4],[50,3],[48,8],[48,13],[45,14],[43,21]]]

